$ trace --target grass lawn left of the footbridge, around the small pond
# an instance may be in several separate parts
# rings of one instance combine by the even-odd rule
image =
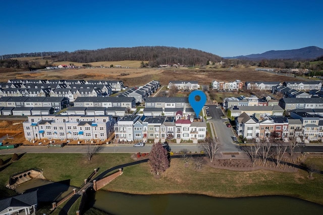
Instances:
[[[11,157],[12,155],[1,155],[0,159],[6,161]],[[33,167],[43,169],[44,177],[48,180],[71,179],[72,186],[80,186],[95,168],[99,168],[100,174],[111,167],[133,161],[130,154],[97,154],[91,161],[87,161],[85,154],[25,154],[18,161],[7,163],[11,163],[7,168],[1,168],[0,198],[14,194],[5,187],[10,175]]]

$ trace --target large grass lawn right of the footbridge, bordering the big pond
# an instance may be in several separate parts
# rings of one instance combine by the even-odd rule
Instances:
[[[323,159],[320,158],[320,162]],[[121,177],[103,189],[134,194],[198,193],[217,197],[287,195],[323,204],[323,175],[298,170],[296,173],[274,171],[229,171],[203,166],[195,170],[193,162],[184,167],[182,159],[172,159],[163,177],[156,179],[143,163],[124,168]]]

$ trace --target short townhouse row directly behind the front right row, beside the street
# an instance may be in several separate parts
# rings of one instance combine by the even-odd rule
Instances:
[[[234,106],[274,106],[278,105],[278,101],[273,99],[271,96],[267,96],[263,99],[259,99],[252,95],[250,97],[240,96],[238,98],[229,97],[223,100],[223,108],[228,110]]]

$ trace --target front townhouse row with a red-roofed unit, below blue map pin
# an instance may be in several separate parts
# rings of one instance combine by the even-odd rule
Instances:
[[[206,122],[190,117],[151,117],[127,115],[115,124],[116,141],[158,142],[175,139],[197,143],[206,137]]]

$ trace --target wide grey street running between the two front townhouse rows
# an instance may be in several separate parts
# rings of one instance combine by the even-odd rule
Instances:
[[[216,133],[218,136],[218,142],[220,145],[221,152],[241,152],[240,147],[237,146],[233,140],[232,136],[234,136],[232,127],[227,127],[225,124],[228,119],[222,119],[224,117],[221,108],[217,108],[216,105],[206,105],[211,119],[208,119],[208,122],[213,122],[214,127],[216,129]]]

